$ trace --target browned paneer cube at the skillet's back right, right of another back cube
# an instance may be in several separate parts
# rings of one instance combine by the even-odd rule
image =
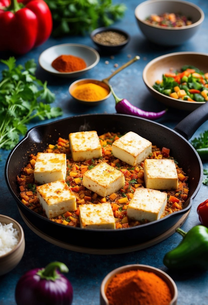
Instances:
[[[143,162],[151,152],[152,143],[132,131],[114,141],[112,145],[113,156],[132,166]]]

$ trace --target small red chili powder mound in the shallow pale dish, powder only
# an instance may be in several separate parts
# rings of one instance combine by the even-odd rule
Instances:
[[[73,55],[61,55],[54,59],[52,67],[59,72],[73,72],[87,67],[84,59]]]

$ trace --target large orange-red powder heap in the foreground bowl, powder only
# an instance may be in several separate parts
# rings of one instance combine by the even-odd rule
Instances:
[[[168,305],[170,289],[153,272],[129,270],[116,274],[106,289],[109,305]]]

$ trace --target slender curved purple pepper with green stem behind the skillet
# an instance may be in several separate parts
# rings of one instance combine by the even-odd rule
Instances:
[[[112,86],[110,86],[110,89],[116,101],[117,113],[129,114],[135,117],[143,117],[149,120],[156,120],[162,117],[167,112],[167,109],[162,110],[160,112],[151,112],[151,111],[144,111],[142,109],[139,109],[136,106],[132,105],[129,101],[127,101],[127,99],[119,99],[115,94],[115,92],[113,91]]]

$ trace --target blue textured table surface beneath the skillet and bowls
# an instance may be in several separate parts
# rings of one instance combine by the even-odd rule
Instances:
[[[194,51],[207,52],[207,28],[208,28],[208,3],[203,0],[193,0],[192,2],[199,5],[205,13],[205,20],[199,32],[188,42],[178,47],[163,48],[148,42],[138,29],[134,18],[134,9],[141,3],[140,0],[125,1],[127,12],[124,19],[115,24],[116,27],[126,30],[131,34],[130,43],[117,55],[114,59],[109,56],[101,55],[101,59],[97,66],[91,69],[83,78],[96,78],[102,80],[109,76],[114,68],[114,64],[121,66],[129,60],[128,55],[134,57],[140,56],[140,60],[134,63],[124,71],[112,78],[110,83],[113,85],[119,97],[125,97],[132,104],[144,110],[160,111],[164,109],[164,105],[156,101],[147,91],[142,81],[142,71],[145,65],[157,56],[178,52],[178,51]],[[38,64],[38,57],[46,48],[61,43],[81,43],[94,47],[93,42],[87,35],[85,37],[66,37],[61,39],[50,38],[43,45],[33,49],[24,56],[17,58],[17,63],[24,63],[27,59],[34,58]],[[9,54],[2,54],[4,58],[8,58]],[[109,64],[105,64],[108,60]],[[3,65],[0,64],[0,69]],[[205,71],[207,72],[207,71]],[[37,69],[37,77],[41,80],[47,80],[49,88],[56,94],[54,106],[61,106],[64,112],[63,117],[74,116],[84,113],[115,113],[115,103],[111,96],[99,106],[91,107],[77,104],[69,95],[68,87],[75,79],[62,79],[52,77],[43,71],[39,66]],[[81,77],[82,78],[82,77]],[[169,109],[168,113],[157,120],[170,128],[187,116],[186,111],[178,111]],[[50,120],[48,121],[50,122]],[[42,122],[46,123],[46,121]],[[40,122],[31,122],[28,128],[40,124]],[[204,123],[193,135],[199,136],[201,132],[208,129],[208,121]],[[1,182],[0,182],[0,214],[5,214],[16,219],[23,227],[26,241],[26,248],[21,262],[9,274],[0,277],[0,305],[14,305],[15,286],[24,272],[35,267],[44,267],[51,261],[59,260],[69,267],[67,277],[71,281],[74,288],[73,305],[98,305],[99,289],[102,279],[106,274],[114,268],[124,264],[147,264],[166,271],[176,282],[178,287],[178,305],[205,305],[208,304],[208,272],[200,272],[196,274],[191,271],[187,274],[173,273],[167,270],[163,265],[164,254],[178,245],[181,236],[177,233],[171,235],[168,239],[160,242],[155,246],[147,249],[136,251],[133,253],[120,255],[90,255],[84,253],[76,253],[70,250],[62,249],[55,246],[34,234],[22,220],[17,209],[16,202],[8,191],[4,179],[4,166],[9,151],[0,150],[2,161],[0,162]],[[203,167],[208,169],[208,163],[203,163]],[[191,212],[182,228],[185,231],[190,230],[194,225],[199,224],[196,208],[199,203],[208,198],[208,187],[202,185],[198,194],[193,200]],[[116,241],[115,241],[116,242]],[[119,246],[119,245],[118,245]],[[27,305],[27,304],[25,304]],[[28,304],[29,305],[29,304]],[[153,304],[152,304],[153,305]]]

